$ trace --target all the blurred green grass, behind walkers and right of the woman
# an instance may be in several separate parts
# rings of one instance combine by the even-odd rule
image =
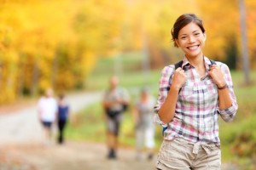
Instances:
[[[146,77],[140,69],[140,62],[137,59],[139,54],[131,54],[123,59],[122,74],[120,74],[120,85],[128,88],[131,94],[131,101],[134,103],[138,99],[137,88],[147,84],[152,89],[154,97],[158,93],[158,81],[160,78],[160,70],[150,71],[150,75]],[[96,71],[91,74],[87,80],[87,88],[93,90],[102,90],[108,87],[108,77],[113,75],[113,59],[102,59],[96,67]],[[248,162],[246,156],[237,157],[232,153],[234,144],[243,133],[250,133],[251,140],[256,141],[256,86],[243,85],[243,74],[241,71],[231,71],[234,82],[235,93],[239,110],[236,113],[236,118],[233,122],[220,122],[220,139],[222,145],[222,160],[223,161],[239,161]],[[256,77],[256,71],[251,72],[250,77]],[[252,79],[255,83],[255,79]],[[96,103],[81,111],[67,128],[67,138],[76,140],[90,140],[96,142],[105,142],[105,122],[102,111],[102,105]],[[134,147],[135,134],[134,124],[132,122],[131,110],[125,113],[123,125],[120,133],[120,144],[123,146]],[[162,141],[161,127],[156,127],[156,150],[160,147]]]

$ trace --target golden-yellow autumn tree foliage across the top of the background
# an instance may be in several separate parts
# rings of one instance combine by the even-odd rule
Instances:
[[[253,60],[256,3],[245,2]],[[0,1],[0,104],[49,86],[81,88],[100,56],[151,48],[152,54],[177,57],[170,31],[183,13],[203,20],[207,56],[225,59],[229,38],[240,39],[238,9],[233,0]]]

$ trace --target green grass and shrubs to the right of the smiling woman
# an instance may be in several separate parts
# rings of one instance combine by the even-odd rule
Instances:
[[[244,86],[241,83],[241,71],[232,71],[232,78],[238,103],[238,111],[233,122],[220,119],[219,136],[222,144],[222,159],[224,161],[239,161],[243,164],[255,160],[254,144],[256,142],[256,88]],[[252,77],[256,71],[252,71]],[[255,79],[253,79],[255,83]],[[245,162],[244,162],[245,161]]]

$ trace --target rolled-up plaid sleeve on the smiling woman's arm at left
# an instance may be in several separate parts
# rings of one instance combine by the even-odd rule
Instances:
[[[172,82],[171,78],[173,71],[174,65],[168,65],[164,67],[161,71],[158,99],[156,101],[156,105],[154,105],[154,122],[160,124],[162,127],[167,127],[167,124],[160,120],[158,111],[160,110],[160,107],[164,104],[168,91],[170,90],[170,82]]]

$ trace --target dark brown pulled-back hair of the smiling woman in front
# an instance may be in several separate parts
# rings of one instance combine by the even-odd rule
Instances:
[[[177,39],[178,32],[187,26],[189,23],[194,22],[197,26],[201,28],[201,31],[205,33],[205,28],[202,24],[202,20],[198,18],[195,14],[182,14],[175,21],[172,27],[172,41],[174,42],[174,47],[177,47],[175,40]]]

